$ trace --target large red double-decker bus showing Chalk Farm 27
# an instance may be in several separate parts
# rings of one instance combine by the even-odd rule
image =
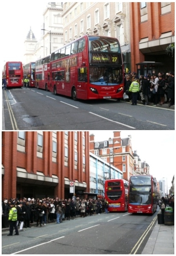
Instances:
[[[118,39],[85,35],[52,52],[49,90],[74,100],[122,98],[123,70]]]

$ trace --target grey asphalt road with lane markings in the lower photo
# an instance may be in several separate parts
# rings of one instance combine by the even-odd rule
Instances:
[[[155,225],[153,215],[96,214],[2,235],[2,254],[141,254]]]

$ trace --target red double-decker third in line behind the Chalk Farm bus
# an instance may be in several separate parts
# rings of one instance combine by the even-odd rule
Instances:
[[[27,77],[29,79],[29,87],[35,86],[35,62],[23,65],[23,81]]]

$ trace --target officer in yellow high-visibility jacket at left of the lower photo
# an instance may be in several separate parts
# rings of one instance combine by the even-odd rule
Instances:
[[[19,235],[18,233],[18,227],[16,225],[17,223],[17,209],[15,207],[15,203],[11,202],[10,203],[10,212],[9,212],[9,216],[8,216],[8,220],[10,221],[10,229],[9,229],[9,235],[13,235],[13,227],[15,228],[15,235]]]

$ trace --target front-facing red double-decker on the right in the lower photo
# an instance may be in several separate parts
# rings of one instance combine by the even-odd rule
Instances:
[[[128,212],[153,214],[157,209],[157,183],[152,175],[134,175],[129,180]]]

